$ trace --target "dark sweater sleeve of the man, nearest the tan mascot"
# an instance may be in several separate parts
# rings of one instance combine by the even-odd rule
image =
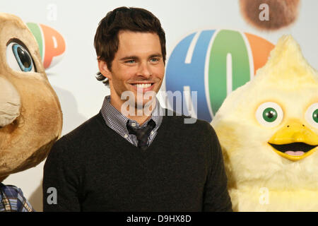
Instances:
[[[70,157],[71,146],[62,138],[54,143],[43,175],[43,211],[80,211],[78,179]]]

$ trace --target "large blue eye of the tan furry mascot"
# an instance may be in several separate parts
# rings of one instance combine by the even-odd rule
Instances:
[[[6,47],[6,61],[8,66],[15,71],[35,71],[32,57],[25,47],[16,42],[11,42]]]

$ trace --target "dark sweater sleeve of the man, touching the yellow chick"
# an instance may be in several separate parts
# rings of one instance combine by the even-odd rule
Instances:
[[[207,182],[204,188],[204,211],[232,211],[232,203],[228,194],[228,179],[225,174],[222,150],[216,132],[211,125],[208,124],[210,140],[210,164]]]

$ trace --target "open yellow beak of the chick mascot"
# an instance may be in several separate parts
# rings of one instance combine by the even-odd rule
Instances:
[[[298,119],[290,119],[271,137],[269,145],[281,157],[302,160],[318,150],[318,135]]]

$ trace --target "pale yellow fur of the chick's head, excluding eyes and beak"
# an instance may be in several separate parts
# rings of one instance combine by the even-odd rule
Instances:
[[[257,109],[266,102],[281,108],[279,124],[264,126],[258,121]],[[230,93],[211,123],[223,148],[229,186],[318,189],[318,151],[294,162],[269,145],[273,134],[290,119],[318,134],[318,124],[310,124],[305,117],[314,103],[318,103],[318,73],[293,37],[285,35],[255,78]]]

